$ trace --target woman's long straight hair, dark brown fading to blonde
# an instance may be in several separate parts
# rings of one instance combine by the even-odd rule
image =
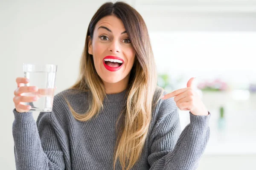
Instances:
[[[90,106],[86,113],[79,114],[66,102],[73,116],[79,121],[88,121],[97,116],[103,108],[106,96],[103,82],[93,64],[93,57],[88,53],[88,36],[93,38],[96,23],[105,16],[114,15],[122,20],[131,43],[136,51],[126,91],[126,105],[122,110],[119,134],[113,156],[113,167],[119,159],[122,170],[129,170],[140,158],[151,122],[153,96],[157,86],[157,72],[151,49],[148,30],[141,15],[124,2],[104,3],[92,17],[85,39],[84,51],[80,61],[80,74],[77,82],[69,89],[88,92]],[[116,125],[117,125],[116,122]]]

